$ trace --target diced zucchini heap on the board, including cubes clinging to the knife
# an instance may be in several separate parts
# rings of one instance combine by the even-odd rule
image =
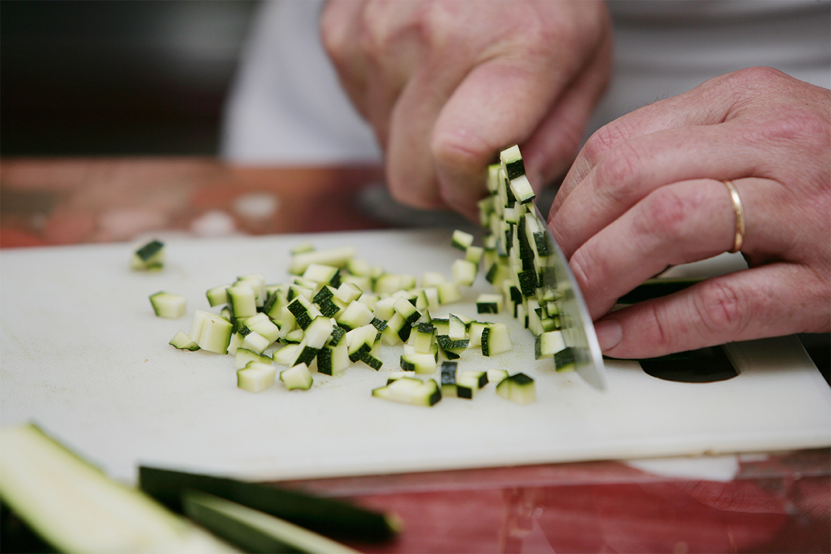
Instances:
[[[232,355],[238,387],[252,392],[278,380],[288,390],[308,390],[315,372],[337,375],[356,364],[379,370],[381,347],[401,346],[401,370],[391,372],[373,396],[431,406],[448,396],[473,399],[495,382],[497,394],[518,404],[533,402],[529,375],[459,369],[471,350],[488,357],[509,351],[508,326],[459,313],[431,315],[460,302],[464,287],[475,282],[479,267],[486,267],[494,292],[476,298],[478,314],[507,308],[534,335],[537,360],[553,357],[556,369],[573,367],[545,222],[531,203],[534,191],[517,146],[489,167],[487,185],[489,195],[479,202],[484,246],[456,230],[450,243],[464,255],[450,267],[451,278],[432,271],[420,279],[386,272],[356,257],[355,248],[317,250],[304,243],[291,252],[288,282],[271,285],[254,274],[210,288],[206,297],[219,313],[196,310],[189,332],[179,331],[170,344]],[[184,298],[168,292],[150,300],[158,316],[184,312]],[[283,366],[279,374],[278,366]],[[436,374],[438,381],[430,376]]]

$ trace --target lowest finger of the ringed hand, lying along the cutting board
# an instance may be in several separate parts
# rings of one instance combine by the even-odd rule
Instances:
[[[648,358],[733,341],[828,332],[829,297],[822,281],[807,268],[785,262],[713,277],[613,311],[595,323],[597,340],[605,355]]]

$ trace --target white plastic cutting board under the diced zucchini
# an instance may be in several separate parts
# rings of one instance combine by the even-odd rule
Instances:
[[[209,287],[247,273],[283,282],[289,249],[304,241],[353,245],[357,257],[419,276],[450,276],[461,255],[448,230],[171,239],[158,273],[130,271],[126,244],[3,251],[0,423],[37,421],[125,480],[139,463],[282,479],[831,445],[831,389],[795,337],[731,345],[740,375],[717,383],[607,361],[600,392],[535,361],[518,321],[490,316],[509,322],[514,349],[469,351],[460,369],[522,370],[538,401],[519,406],[488,385],[433,408],[371,397],[398,369],[400,347],[385,347],[377,372],[358,364],[316,375],[312,390],[252,394],[236,388],[230,356],[168,345],[194,309],[209,309]],[[156,317],[148,296],[160,290],[187,297],[187,315]],[[479,277],[468,303],[447,311],[475,316],[471,302],[488,291]]]

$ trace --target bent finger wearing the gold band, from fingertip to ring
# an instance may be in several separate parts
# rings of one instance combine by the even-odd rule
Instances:
[[[746,228],[745,236],[753,231]],[[734,238],[735,213],[725,185],[711,179],[686,181],[648,194],[578,248],[569,264],[597,319],[667,266],[730,250]]]

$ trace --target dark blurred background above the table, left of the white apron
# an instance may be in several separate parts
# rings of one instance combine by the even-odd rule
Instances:
[[[2,0],[0,154],[216,154],[257,0]]]

